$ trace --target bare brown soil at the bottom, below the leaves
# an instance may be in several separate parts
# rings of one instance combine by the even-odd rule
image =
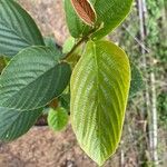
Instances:
[[[106,167],[117,167],[114,156]],[[80,149],[69,126],[53,132],[48,127],[33,127],[27,135],[0,146],[0,167],[96,167]]]

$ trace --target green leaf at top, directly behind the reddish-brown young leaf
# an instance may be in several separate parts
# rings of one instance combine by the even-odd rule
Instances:
[[[90,0],[97,13],[96,26],[100,28],[92,38],[100,39],[120,24],[130,11],[132,0]],[[86,36],[92,30],[86,26],[75,12],[70,0],[65,0],[66,18],[72,37]]]

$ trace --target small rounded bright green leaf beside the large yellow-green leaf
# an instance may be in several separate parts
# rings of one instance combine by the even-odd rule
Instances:
[[[65,108],[51,109],[48,115],[48,125],[55,130],[62,130],[68,124],[68,112]]]

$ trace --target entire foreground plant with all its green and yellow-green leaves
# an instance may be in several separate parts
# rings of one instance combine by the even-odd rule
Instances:
[[[119,47],[98,39],[121,23],[132,0],[90,2],[92,7],[88,1],[82,7],[77,1],[76,8],[65,0],[67,24],[75,38],[67,40],[61,51],[51,38],[43,41],[35,21],[17,2],[0,0],[0,55],[11,58],[6,68],[4,59],[0,59],[0,140],[20,137],[43,108],[59,102],[60,107],[48,116],[53,130],[67,125],[69,111],[81,148],[95,161],[102,165],[116,151],[129,94],[130,65]],[[132,67],[132,96],[140,85],[140,72]]]

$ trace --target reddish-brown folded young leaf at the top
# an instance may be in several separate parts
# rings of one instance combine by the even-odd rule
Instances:
[[[89,0],[71,0],[71,3],[79,16],[80,19],[84,20],[85,23],[92,26],[96,21],[96,12],[90,4]]]

